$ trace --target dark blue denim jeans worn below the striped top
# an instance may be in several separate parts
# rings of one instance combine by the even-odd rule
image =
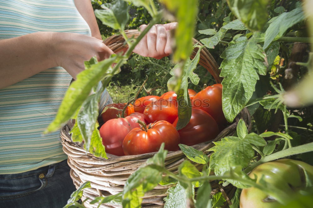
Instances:
[[[37,170],[0,175],[1,208],[61,208],[76,190],[64,160]]]

